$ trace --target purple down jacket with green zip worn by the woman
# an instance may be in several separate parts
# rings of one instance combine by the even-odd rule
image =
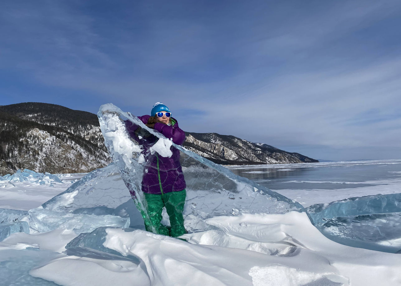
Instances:
[[[138,118],[144,123],[148,123],[150,115],[139,116]],[[177,145],[182,145],[185,141],[185,133],[178,127],[176,119],[170,118],[171,126],[163,123],[155,123],[154,129],[162,133],[166,138],[172,138]],[[148,132],[143,132],[141,127],[126,121],[126,127],[130,136],[142,144],[144,147],[143,154],[145,156],[144,175],[142,177],[142,191],[144,193],[163,194],[172,191],[182,191],[186,187],[184,174],[180,164],[180,151],[170,147],[173,155],[162,157],[158,153],[150,154],[148,149],[152,147],[158,140]]]

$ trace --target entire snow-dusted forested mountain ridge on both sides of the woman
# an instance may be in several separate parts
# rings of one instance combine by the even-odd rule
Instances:
[[[186,132],[184,147],[223,165],[317,160],[230,135]],[[0,175],[17,169],[79,173],[111,161],[97,115],[48,103],[0,106]]]

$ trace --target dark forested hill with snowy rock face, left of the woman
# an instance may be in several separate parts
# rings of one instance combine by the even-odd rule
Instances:
[[[0,174],[88,172],[109,161],[95,114],[47,103],[0,106]]]

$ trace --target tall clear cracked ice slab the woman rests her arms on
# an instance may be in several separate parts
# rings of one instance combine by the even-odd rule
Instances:
[[[142,207],[144,198],[141,182],[148,162],[144,160],[142,146],[128,135],[124,125],[127,120],[138,127],[138,136],[156,136],[159,141],[164,140],[165,146],[171,145],[171,148],[180,151],[187,191],[184,209],[187,230],[195,232],[209,229],[211,226],[204,221],[212,216],[305,211],[299,203],[249,179],[234,175],[223,166],[172,143],[162,134],[146,127],[131,113],[124,113],[113,104],[102,105],[98,117],[105,145],[143,215],[146,212]]]

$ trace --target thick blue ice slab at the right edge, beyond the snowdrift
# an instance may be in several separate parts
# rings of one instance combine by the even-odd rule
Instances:
[[[349,246],[401,252],[401,193],[352,197],[307,208],[316,228]]]

